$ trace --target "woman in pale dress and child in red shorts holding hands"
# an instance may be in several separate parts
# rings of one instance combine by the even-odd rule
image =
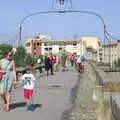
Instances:
[[[26,73],[18,81],[12,51],[5,51],[3,56],[4,58],[0,60],[0,96],[3,100],[3,111],[10,110],[11,97],[16,83],[21,84],[24,88],[23,95],[26,99],[27,111],[34,111],[32,96],[36,78],[32,74],[32,66],[25,67]]]

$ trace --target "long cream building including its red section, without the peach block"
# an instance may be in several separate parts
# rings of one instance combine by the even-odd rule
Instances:
[[[54,40],[48,35],[25,40],[27,53],[34,55],[45,55],[49,53],[60,54],[66,51],[70,54],[85,54],[86,43],[81,39]]]

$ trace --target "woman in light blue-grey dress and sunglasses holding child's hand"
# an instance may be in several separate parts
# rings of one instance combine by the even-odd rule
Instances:
[[[3,110],[9,111],[14,81],[17,81],[15,62],[12,59],[11,51],[4,52],[4,58],[0,61],[0,72],[2,74],[0,80],[0,95],[3,99]]]

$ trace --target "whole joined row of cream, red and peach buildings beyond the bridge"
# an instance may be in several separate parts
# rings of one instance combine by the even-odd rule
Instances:
[[[66,51],[70,54],[85,55],[88,59],[94,60],[98,60],[99,43],[96,37],[55,40],[48,35],[40,35],[25,40],[26,50],[30,54],[45,55],[53,53],[60,55],[63,51]],[[91,50],[89,47],[91,47]]]

